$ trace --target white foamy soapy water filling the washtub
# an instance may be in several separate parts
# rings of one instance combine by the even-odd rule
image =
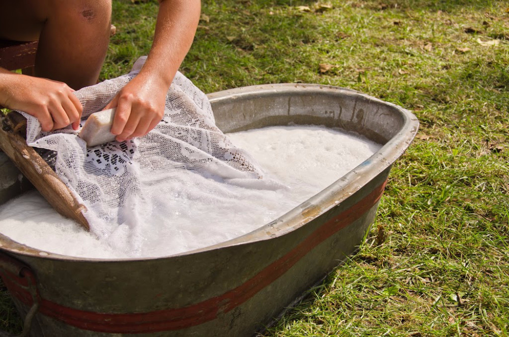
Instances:
[[[156,220],[144,226],[143,233],[133,233],[123,224],[101,240],[63,218],[37,191],[31,191],[0,208],[0,233],[30,247],[74,257],[128,259],[179,254],[264,226],[344,176],[381,147],[318,126],[274,126],[230,133],[228,137],[281,187],[249,188],[191,171],[181,172],[168,178],[171,188],[150,196],[156,201]],[[164,218],[158,218],[158,208],[171,209],[169,218],[167,211]]]

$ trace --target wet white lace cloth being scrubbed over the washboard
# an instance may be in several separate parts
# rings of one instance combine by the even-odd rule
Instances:
[[[129,74],[75,92],[83,105],[81,126],[136,76],[144,62],[140,58]],[[87,148],[79,131],[68,127],[42,132],[36,118],[24,116],[27,144],[56,151],[55,172],[88,208],[84,216],[91,231],[100,239],[115,238],[115,245],[123,245],[130,256],[143,244],[144,228],[158,226],[172,211],[168,198],[176,193],[200,198],[200,186],[189,181],[186,172],[221,183],[280,187],[264,179],[252,158],[215,126],[207,96],[181,73],[168,90],[162,121],[131,141]]]

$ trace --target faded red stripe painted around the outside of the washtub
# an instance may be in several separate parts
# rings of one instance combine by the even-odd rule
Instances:
[[[46,299],[40,300],[39,312],[80,329],[113,333],[149,333],[178,330],[214,320],[219,312],[229,312],[286,273],[310,250],[337,231],[347,227],[381,198],[386,181],[355,205],[322,224],[314,233],[295,246],[286,255],[265,267],[244,284],[220,296],[182,308],[148,313],[106,314],[76,310]],[[6,282],[11,294],[31,305],[25,289],[14,282]],[[9,283],[9,284],[7,284]],[[30,303],[29,303],[30,302]]]

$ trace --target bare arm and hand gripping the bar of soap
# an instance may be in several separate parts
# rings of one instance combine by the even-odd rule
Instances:
[[[111,133],[117,141],[143,136],[164,114],[166,93],[192,44],[200,0],[159,0],[154,42],[139,72],[106,106],[117,107]]]

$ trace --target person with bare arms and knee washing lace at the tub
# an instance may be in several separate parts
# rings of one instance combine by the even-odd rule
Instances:
[[[200,0],[159,3],[145,66],[105,107],[117,107],[111,132],[118,141],[143,136],[160,122],[166,92],[200,18]],[[37,117],[44,131],[69,124],[76,129],[82,107],[72,92],[97,82],[110,16],[110,0],[0,0],[0,38],[39,40],[37,77],[0,68],[0,104]]]

